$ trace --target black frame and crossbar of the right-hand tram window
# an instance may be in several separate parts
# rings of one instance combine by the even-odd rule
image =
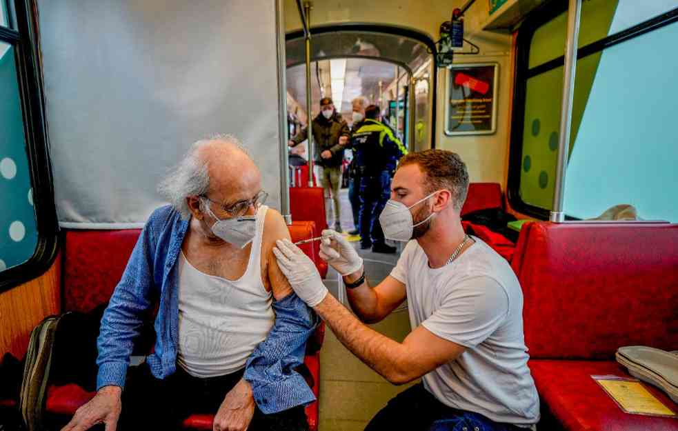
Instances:
[[[541,63],[539,66],[530,69],[530,43],[532,43],[532,37],[539,27],[548,21],[555,19],[555,17],[567,10],[568,5],[566,1],[547,3],[545,6],[542,6],[533,12],[532,15],[524,21],[517,32],[516,38],[515,83],[513,86],[513,109],[511,113],[508,184],[506,187],[506,194],[508,202],[514,210],[542,220],[548,220],[550,210],[530,205],[520,197],[527,82],[531,77],[564,66],[565,56],[561,55],[560,57],[546,61],[546,63]],[[676,21],[678,21],[678,8],[578,48],[577,60],[601,52],[618,43],[639,37],[641,34],[668,26],[670,23],[675,23]],[[577,220],[575,217],[570,217],[567,214],[566,219]]]

